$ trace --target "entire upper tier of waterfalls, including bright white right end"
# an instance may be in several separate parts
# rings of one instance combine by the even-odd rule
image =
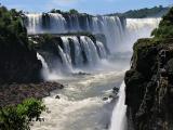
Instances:
[[[160,18],[119,18],[117,16],[26,14],[28,34],[65,34],[89,31],[104,34],[111,53],[127,51],[137,38],[149,37]],[[128,40],[127,40],[128,39]],[[130,48],[128,48],[130,50]]]

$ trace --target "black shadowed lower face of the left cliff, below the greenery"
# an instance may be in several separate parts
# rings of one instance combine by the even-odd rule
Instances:
[[[0,39],[0,83],[40,80],[42,65],[36,51],[28,49],[18,39]]]

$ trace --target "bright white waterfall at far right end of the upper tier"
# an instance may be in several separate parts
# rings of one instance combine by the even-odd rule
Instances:
[[[125,52],[132,49],[139,38],[149,38],[150,32],[158,27],[161,18],[127,18],[123,43],[117,48]]]

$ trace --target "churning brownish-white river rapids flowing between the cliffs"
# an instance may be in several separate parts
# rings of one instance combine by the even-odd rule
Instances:
[[[117,60],[114,66],[105,63],[106,68],[101,67],[95,73],[88,72],[91,75],[58,77],[56,81],[65,84],[65,88],[43,99],[51,113],[43,113],[45,121],[34,123],[31,129],[106,130],[110,125],[115,102],[110,102],[111,99],[103,101],[103,98],[111,95],[114,87],[119,88],[129,66],[129,58]],[[61,99],[55,99],[56,95]]]

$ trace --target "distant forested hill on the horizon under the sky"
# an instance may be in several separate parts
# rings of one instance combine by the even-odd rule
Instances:
[[[124,13],[115,13],[115,14],[109,14],[109,15],[118,15],[127,18],[144,18],[144,17],[160,17],[163,14],[165,14],[170,8],[163,8],[162,5],[160,6],[154,6],[151,9],[145,8],[145,9],[139,9],[139,10],[130,10]]]

